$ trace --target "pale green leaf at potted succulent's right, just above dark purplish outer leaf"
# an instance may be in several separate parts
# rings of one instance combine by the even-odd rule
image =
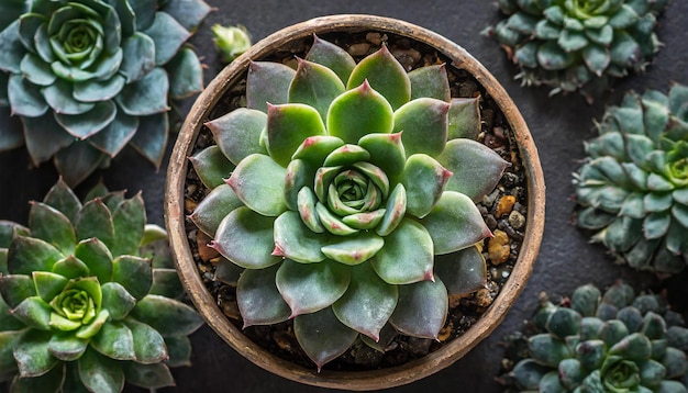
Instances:
[[[491,236],[473,201],[453,191],[445,191],[442,194],[421,224],[430,233],[436,255],[464,249]]]

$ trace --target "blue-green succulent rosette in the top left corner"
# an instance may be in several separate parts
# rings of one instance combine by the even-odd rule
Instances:
[[[25,144],[68,184],[127,144],[159,167],[168,99],[202,88],[185,43],[209,11],[202,0],[2,1],[0,150]]]

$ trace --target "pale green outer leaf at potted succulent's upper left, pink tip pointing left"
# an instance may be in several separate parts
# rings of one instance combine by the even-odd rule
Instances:
[[[206,125],[220,150],[234,165],[254,153],[267,154],[259,143],[260,133],[267,125],[267,116],[260,111],[238,108]]]

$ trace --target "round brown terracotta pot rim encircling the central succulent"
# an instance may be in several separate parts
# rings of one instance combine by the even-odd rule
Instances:
[[[450,59],[447,68],[463,69],[482,85],[486,93],[497,103],[512,130],[522,165],[525,168],[528,226],[510,278],[487,312],[465,334],[441,349],[399,367],[356,372],[323,370],[318,373],[314,367],[307,369],[290,363],[246,338],[242,330],[224,316],[213,296],[206,289],[191,256],[185,231],[187,157],[191,155],[199,132],[203,123],[210,120],[213,108],[237,80],[245,77],[249,59],[267,58],[279,48],[288,47],[290,42],[310,37],[313,33],[367,31],[395,34],[429,45]],[[544,190],[537,151],[525,122],[499,82],[464,48],[431,31],[398,20],[370,15],[333,15],[296,24],[268,36],[224,68],[208,86],[191,109],[175,145],[167,173],[165,213],[174,256],[184,287],[208,324],[230,346],[257,366],[293,381],[346,390],[378,390],[406,384],[448,367],[501,323],[507,311],[523,290],[540,248],[544,226]]]

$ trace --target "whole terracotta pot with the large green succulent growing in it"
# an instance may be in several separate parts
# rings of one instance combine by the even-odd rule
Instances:
[[[348,52],[333,44],[347,40]],[[459,91],[460,78],[473,83],[469,92]],[[484,116],[486,137],[481,112],[502,120],[498,137],[493,120]],[[454,332],[418,360],[380,370],[320,370],[354,343],[384,350],[397,332],[437,339],[441,329],[452,330],[445,325],[448,295],[485,285],[479,247],[492,234],[475,202],[495,194],[509,162],[470,141],[478,134],[485,145],[501,138],[513,146],[502,156],[522,170],[526,186],[519,196],[528,225],[495,303],[467,332]],[[189,173],[200,181],[188,183]],[[356,390],[428,375],[489,334],[532,269],[544,217],[536,150],[501,87],[441,36],[368,15],[288,27],[228,66],[185,123],[166,195],[182,283],[209,324],[277,374]],[[509,205],[509,213],[515,199],[504,195],[493,205]],[[488,246],[490,255],[506,250],[500,262],[510,257],[508,237]],[[289,332],[315,366],[270,353],[228,319],[211,293],[220,283],[199,272],[195,256],[201,254],[211,255],[218,281],[238,281],[234,323],[292,321]]]

